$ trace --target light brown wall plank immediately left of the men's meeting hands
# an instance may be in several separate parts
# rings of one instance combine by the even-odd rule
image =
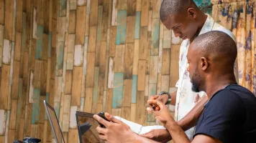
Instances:
[[[136,122],[143,124],[145,119],[144,92],[137,92]]]

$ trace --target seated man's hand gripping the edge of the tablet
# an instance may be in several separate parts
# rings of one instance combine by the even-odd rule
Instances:
[[[104,124],[106,128],[101,128],[98,126],[96,128],[97,132],[99,132],[99,138],[104,139],[106,142],[132,142],[132,130],[129,128],[127,124],[124,124],[119,119],[114,118],[111,114],[105,113],[106,119],[109,119],[108,122],[105,119],[99,117],[98,115],[94,115],[93,118],[96,119],[101,124]],[[129,139],[129,140],[128,140]]]

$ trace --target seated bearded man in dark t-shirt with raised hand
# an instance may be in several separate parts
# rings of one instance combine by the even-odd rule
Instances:
[[[210,31],[196,37],[188,49],[188,71],[194,92],[206,92],[209,102],[196,119],[196,143],[256,142],[256,97],[239,86],[234,77],[237,46],[224,32]],[[147,110],[163,123],[174,142],[190,142],[162,102],[160,111]]]

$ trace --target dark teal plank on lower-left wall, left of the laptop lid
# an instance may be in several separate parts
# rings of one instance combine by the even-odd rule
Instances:
[[[40,89],[34,89],[32,103],[32,124],[39,121]]]

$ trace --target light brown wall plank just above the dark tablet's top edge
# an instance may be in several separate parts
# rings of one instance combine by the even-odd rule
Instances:
[[[93,107],[93,88],[86,87],[86,101],[84,104],[83,111],[91,113],[92,107]]]

